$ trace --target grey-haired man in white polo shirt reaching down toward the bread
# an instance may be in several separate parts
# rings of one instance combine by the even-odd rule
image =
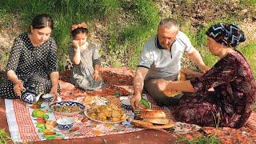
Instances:
[[[198,50],[192,46],[190,39],[179,30],[178,22],[171,18],[162,19],[158,25],[158,33],[150,38],[142,49],[134,77],[134,96],[130,99],[134,109],[138,108],[142,89],[154,98],[158,106],[178,104],[182,94],[170,98],[158,90],[156,81],[159,78],[168,81],[178,80],[184,53],[202,72],[209,69],[202,61]]]

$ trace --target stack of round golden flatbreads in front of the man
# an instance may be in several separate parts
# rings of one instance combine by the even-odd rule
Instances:
[[[166,114],[162,110],[142,110],[132,120],[134,126],[149,129],[167,129],[174,126],[174,122],[166,118]]]

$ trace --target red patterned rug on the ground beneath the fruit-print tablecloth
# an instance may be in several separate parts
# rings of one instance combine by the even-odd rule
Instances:
[[[86,95],[106,95],[108,93],[108,89],[110,90],[111,85],[112,88],[114,88],[114,90],[110,90],[109,94],[116,94],[116,95],[129,95],[132,93],[132,81],[133,81],[133,76],[134,73],[132,70],[129,70],[127,68],[106,68],[106,73],[105,74],[109,74],[107,77],[104,77],[104,75],[102,76],[103,79],[105,78],[109,83],[110,86],[106,86],[105,90],[100,90],[100,91],[84,91],[84,90],[72,90],[72,91],[62,91],[62,98],[79,98],[81,96],[86,96]],[[69,71],[65,71],[61,74],[62,76],[62,80],[66,82],[68,82],[68,73]],[[101,72],[102,74],[104,74],[104,70],[102,70]],[[66,75],[66,76],[65,76]],[[114,76],[114,77],[109,77],[109,76]],[[118,77],[117,77],[118,76]],[[104,79],[104,80],[105,80]],[[126,82],[126,86],[123,85],[122,82]],[[107,89],[108,88],[108,89]],[[119,90],[118,93],[115,92],[115,90]],[[150,99],[150,98],[149,98]],[[5,104],[6,106],[7,104]],[[152,105],[154,105],[154,102],[152,102]],[[154,109],[157,109],[156,107],[153,106]],[[163,108],[164,110],[170,110],[168,108]],[[11,110],[6,109],[6,114],[7,114],[7,118],[8,115],[10,114]],[[171,115],[170,115],[171,118]],[[0,125],[1,126],[1,125]],[[10,124],[9,124],[10,126]],[[184,133],[184,130],[180,130],[180,129],[186,129],[188,130]],[[9,130],[12,129],[12,126],[9,127]],[[199,130],[199,131],[198,131]],[[139,131],[143,131],[142,133]],[[184,123],[179,123],[177,122],[177,126],[174,126],[174,129],[170,129],[170,130],[166,130],[169,131],[169,134],[166,134],[166,132],[164,132],[165,130],[139,130],[137,132],[134,133],[129,133],[129,134],[125,134],[128,138],[135,138],[135,140],[139,140],[139,142],[151,142],[151,143],[155,143],[157,141],[149,141],[149,139],[147,139],[147,136],[145,136],[145,134],[151,134],[151,137],[154,136],[154,138],[158,138],[158,136],[161,136],[162,141],[158,141],[157,143],[166,143],[166,142],[175,142],[175,139],[177,140],[177,138],[179,136],[185,137],[185,138],[196,138],[202,134],[216,134],[219,138],[219,140],[221,142],[224,143],[242,143],[242,142],[246,142],[246,143],[255,143],[255,138],[256,138],[256,114],[255,112],[253,112],[246,124],[246,126],[242,127],[241,129],[231,129],[231,128],[227,128],[227,127],[223,127],[223,128],[214,128],[214,127],[198,127],[198,126],[194,126],[194,125],[190,125],[190,124],[184,124]],[[164,133],[163,133],[164,132]],[[173,133],[173,134],[171,134]],[[180,133],[180,134],[178,134]],[[183,134],[182,134],[183,133]],[[138,136],[134,136],[135,134],[138,134]],[[163,136],[165,135],[165,136]],[[168,135],[168,136],[167,136]],[[232,135],[235,135],[232,136]],[[30,138],[32,138],[33,135],[30,135]],[[63,138],[63,137],[60,137]],[[64,137],[65,138],[65,137]],[[122,135],[114,135],[113,137],[111,137],[111,135],[106,135],[106,136],[102,136],[102,137],[93,137],[93,138],[86,138],[86,139],[90,139],[90,140],[95,140],[92,142],[96,142],[96,139],[99,138],[103,138],[103,140],[101,142],[105,142],[105,140],[110,140],[110,138],[114,138],[111,139],[111,142],[128,142],[126,140],[123,140]],[[160,138],[160,139],[161,139]],[[81,139],[81,141],[79,139],[77,139],[78,141],[72,141],[72,142],[86,142],[84,140],[84,138]],[[119,141],[118,141],[119,140]],[[133,142],[137,142],[137,141],[133,141]],[[143,140],[143,141],[142,141]],[[51,141],[51,142],[55,142],[55,141]],[[61,142],[66,142],[66,141],[61,141]],[[98,141],[97,141],[98,142]],[[131,142],[129,140],[129,142]],[[128,142],[128,143],[129,143]]]

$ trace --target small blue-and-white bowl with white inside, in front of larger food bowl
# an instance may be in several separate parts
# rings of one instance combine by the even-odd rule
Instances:
[[[57,124],[59,130],[70,130],[74,125],[74,118],[60,118]]]

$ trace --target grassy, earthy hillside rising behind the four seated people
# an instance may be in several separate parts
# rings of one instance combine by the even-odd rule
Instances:
[[[176,18],[181,30],[200,51],[207,65],[213,66],[217,58],[207,52],[205,30],[216,22],[236,22],[246,33],[246,42],[239,50],[246,53],[256,72],[254,40],[256,39],[256,9],[254,0],[238,1],[165,1],[165,0],[90,0],[0,3],[0,70],[4,70],[14,37],[30,24],[38,13],[49,12],[55,20],[53,37],[58,43],[60,70],[66,65],[67,47],[70,44],[69,26],[86,21],[90,26],[90,40],[101,48],[102,66],[129,66],[135,68],[143,43],[152,34],[160,18]],[[18,5],[23,5],[24,7]],[[44,5],[47,8],[42,8]],[[58,8],[61,6],[62,8]],[[22,7],[22,8],[21,8]],[[85,11],[83,11],[85,10]],[[247,47],[244,49],[243,47]],[[184,66],[193,66],[186,58]]]

